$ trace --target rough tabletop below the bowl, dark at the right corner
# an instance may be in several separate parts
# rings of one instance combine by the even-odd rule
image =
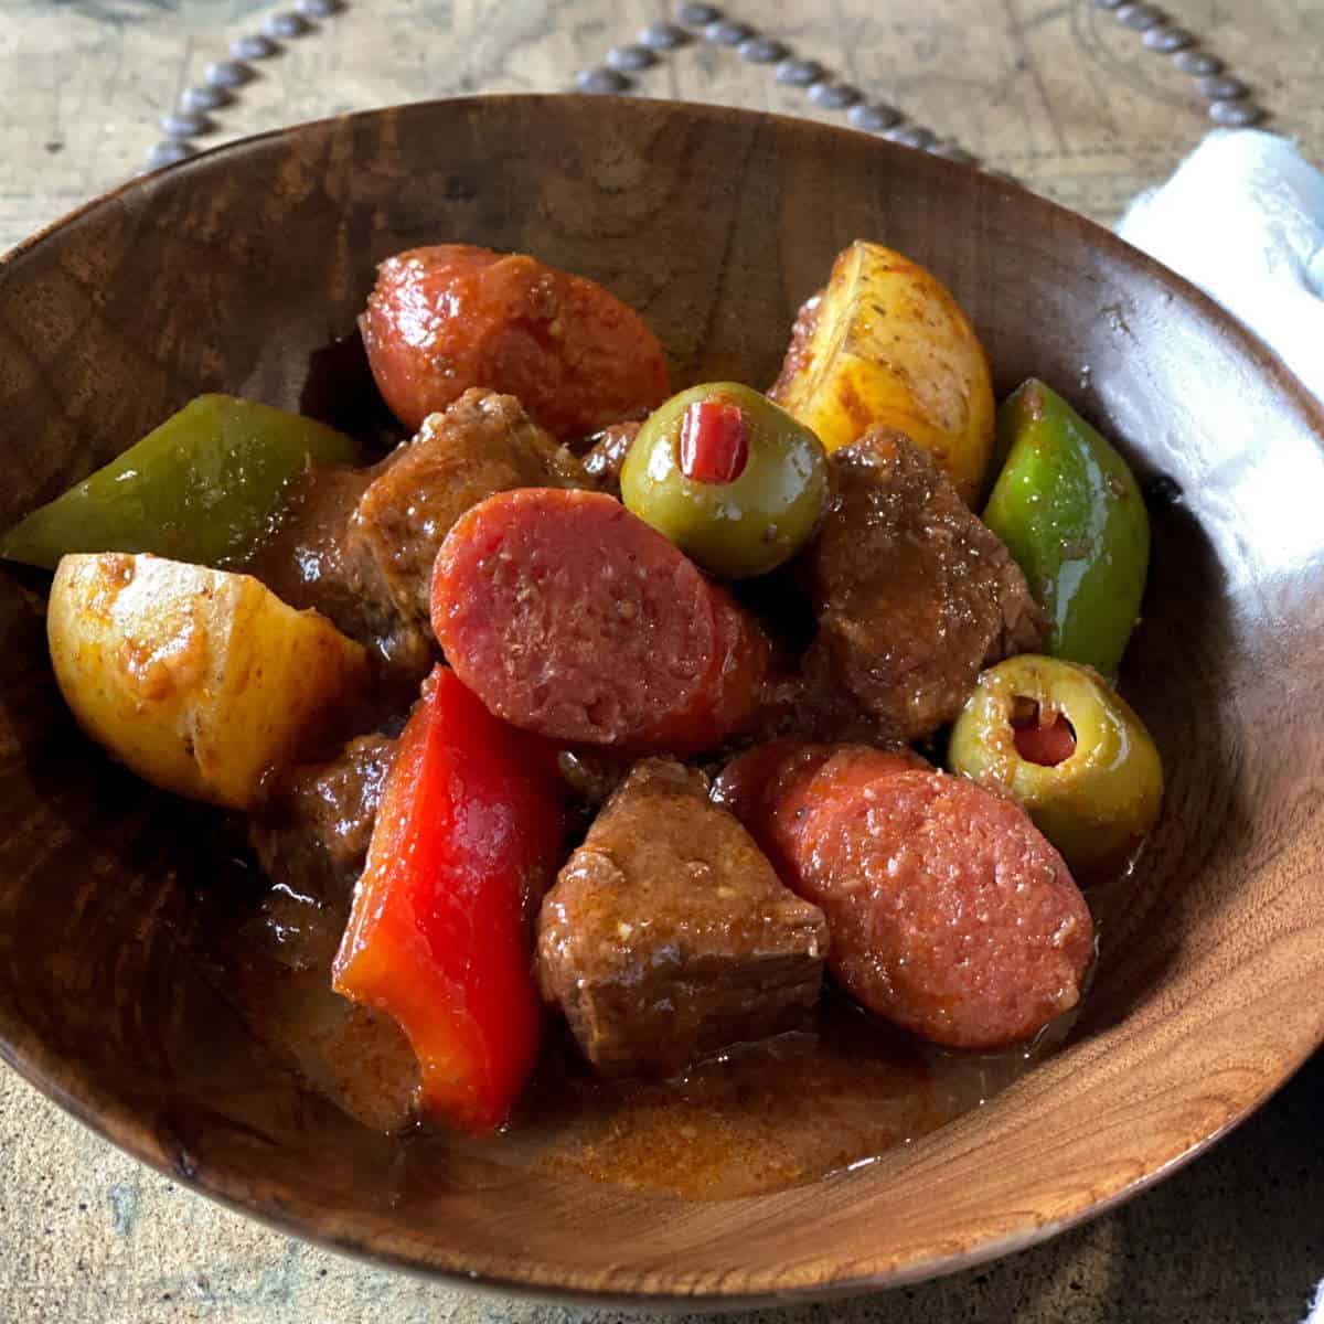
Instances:
[[[1083,1227],[919,1287],[761,1311],[759,1324],[1299,1324],[1324,1276],[1321,1117],[1317,1055],[1209,1153]],[[91,1136],[12,1071],[0,1074],[0,1172],[7,1324],[628,1319],[459,1291],[270,1231]]]

